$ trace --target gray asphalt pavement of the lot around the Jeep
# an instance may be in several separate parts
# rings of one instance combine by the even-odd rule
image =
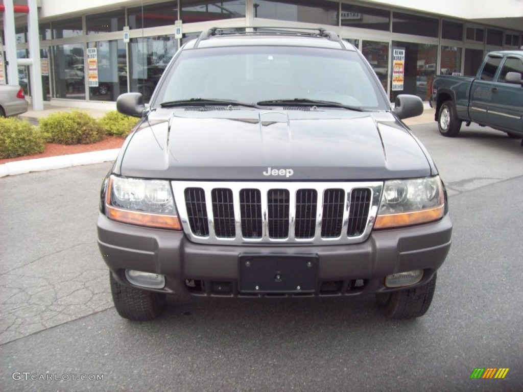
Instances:
[[[523,148],[474,125],[412,129],[454,232],[433,304],[408,321],[370,296],[172,297],[155,321],[124,320],[96,246],[111,164],[0,179],[0,390],[523,390]],[[509,371],[471,379],[476,367]]]

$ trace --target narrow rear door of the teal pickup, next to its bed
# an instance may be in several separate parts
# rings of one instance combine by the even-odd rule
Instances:
[[[493,80],[502,59],[502,55],[489,54],[470,86],[469,116],[479,124],[488,124],[488,105],[494,94]]]

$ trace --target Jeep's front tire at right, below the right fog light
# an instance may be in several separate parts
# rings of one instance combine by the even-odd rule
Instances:
[[[436,274],[423,286],[376,294],[376,301],[389,318],[413,318],[423,316],[432,302],[436,290]]]

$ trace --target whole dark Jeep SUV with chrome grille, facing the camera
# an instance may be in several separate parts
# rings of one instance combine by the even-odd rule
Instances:
[[[122,317],[171,293],[376,294],[425,314],[451,243],[445,187],[372,67],[335,33],[211,29],[173,57],[101,188],[98,244]],[[249,31],[252,30],[252,31]]]

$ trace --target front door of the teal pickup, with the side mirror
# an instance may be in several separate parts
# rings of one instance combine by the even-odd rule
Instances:
[[[521,57],[509,55],[501,67],[497,80],[492,84],[488,125],[503,131],[523,133],[523,86],[505,82],[508,72],[523,74],[523,60]]]

